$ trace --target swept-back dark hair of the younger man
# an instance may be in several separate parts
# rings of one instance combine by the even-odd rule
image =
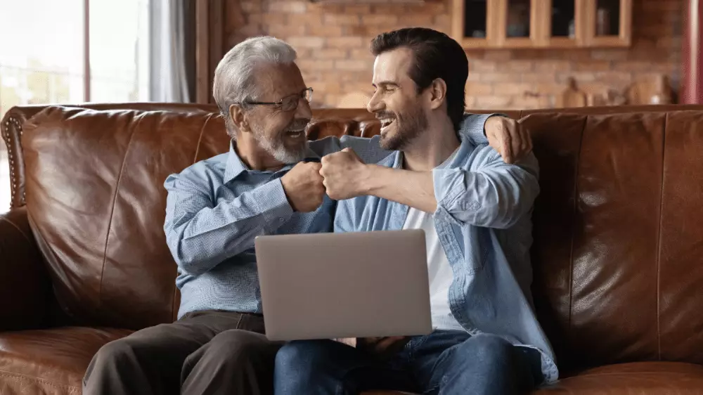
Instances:
[[[401,47],[410,48],[415,55],[415,64],[409,75],[418,93],[427,89],[434,79],[444,79],[446,112],[454,130],[458,131],[466,104],[464,89],[469,75],[469,61],[464,49],[446,34],[425,27],[382,33],[371,41],[373,56]]]

